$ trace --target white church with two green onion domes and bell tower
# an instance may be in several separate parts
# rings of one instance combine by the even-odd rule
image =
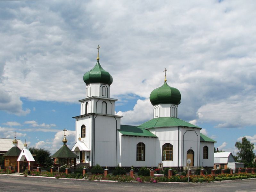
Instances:
[[[121,125],[110,97],[112,76],[99,56],[93,69],[84,74],[86,98],[80,115],[75,116],[76,143],[72,151],[77,163],[88,166],[184,167],[214,165],[214,140],[200,133],[201,128],[178,118],[181,94],[165,77],[161,87],[150,94],[153,119],[139,125]],[[138,114],[139,115],[139,114]]]

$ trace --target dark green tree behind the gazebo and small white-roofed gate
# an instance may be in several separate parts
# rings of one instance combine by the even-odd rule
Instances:
[[[52,165],[51,152],[49,149],[38,149],[38,148],[29,148],[29,151],[34,155],[34,159],[37,164],[40,165]]]

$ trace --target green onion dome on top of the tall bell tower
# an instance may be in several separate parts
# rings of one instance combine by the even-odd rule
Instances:
[[[99,60],[97,60],[94,68],[84,74],[84,82],[86,84],[90,83],[105,83],[111,85],[113,82],[112,76],[109,72],[105,71],[101,65]]]

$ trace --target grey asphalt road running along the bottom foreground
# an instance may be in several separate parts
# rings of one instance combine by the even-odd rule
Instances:
[[[256,180],[238,180],[211,183],[124,183],[86,180],[64,180],[23,176],[0,175],[0,191],[8,192],[70,192],[70,191],[237,191],[256,192]]]

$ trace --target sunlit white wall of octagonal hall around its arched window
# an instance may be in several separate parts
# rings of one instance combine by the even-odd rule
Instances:
[[[155,164],[163,163],[164,167],[178,166],[178,127],[155,128],[149,129],[149,131],[158,137],[155,145]],[[172,161],[162,160],[162,149],[166,143],[170,143],[173,146]]]

